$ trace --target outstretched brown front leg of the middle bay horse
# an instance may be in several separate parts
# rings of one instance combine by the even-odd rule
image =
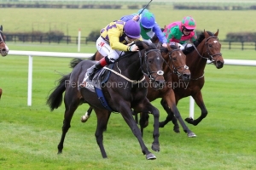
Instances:
[[[173,90],[169,90],[169,92],[165,94],[163,99],[166,100],[166,104],[168,105],[168,107],[170,107],[174,116],[177,118],[177,121],[181,124],[181,126],[183,127],[183,131],[187,133],[188,137],[195,137],[196,136],[195,133],[193,133],[189,129],[189,127],[187,127],[185,122],[183,122],[183,118],[180,115],[180,112],[177,110],[176,99],[175,99],[175,94]]]

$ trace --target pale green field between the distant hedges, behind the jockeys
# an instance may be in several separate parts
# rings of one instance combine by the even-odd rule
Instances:
[[[183,16],[195,18],[200,31],[217,31],[219,39],[224,40],[229,32],[255,31],[252,21],[255,10],[215,11],[215,10],[173,10],[172,5],[151,4],[160,27],[182,20]],[[102,29],[112,20],[119,20],[125,14],[137,10],[131,9],[67,9],[67,8],[1,8],[0,24],[4,31],[49,31],[60,30],[66,35],[87,37],[90,31]],[[15,17],[14,17],[15,16]]]

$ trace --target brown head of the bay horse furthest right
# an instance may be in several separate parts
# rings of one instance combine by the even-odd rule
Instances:
[[[204,39],[202,45],[199,44],[197,49],[200,51],[199,47],[201,47],[203,56],[211,60],[218,69],[222,68],[224,59],[220,53],[221,44],[218,42],[218,31],[214,35],[210,31],[204,31],[201,36]]]

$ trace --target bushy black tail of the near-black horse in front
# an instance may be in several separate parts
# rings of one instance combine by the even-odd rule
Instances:
[[[50,111],[57,109],[61,106],[62,103],[62,94],[66,90],[66,81],[69,80],[70,74],[64,75],[59,80],[59,85],[55,88],[55,90],[49,95],[46,104],[49,105]]]

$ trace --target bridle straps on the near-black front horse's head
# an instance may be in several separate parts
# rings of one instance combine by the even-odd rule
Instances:
[[[149,81],[155,81],[156,77],[164,75],[164,71],[150,71],[150,69],[148,68],[148,62],[147,62],[148,53],[150,53],[150,52],[159,52],[160,53],[160,49],[150,49],[150,50],[148,50],[144,54],[144,59],[142,57],[141,52],[139,51],[140,65],[141,65],[141,70],[142,71],[143,71],[143,67],[146,67],[146,71],[143,71],[143,74],[146,75],[149,78]],[[161,54],[160,54],[160,56],[161,56]],[[156,77],[152,76],[152,74],[154,74],[154,73],[157,74]]]

